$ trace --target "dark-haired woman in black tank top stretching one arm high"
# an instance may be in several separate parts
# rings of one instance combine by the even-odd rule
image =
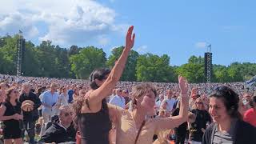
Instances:
[[[82,144],[109,144],[111,122],[106,97],[122,76],[126,60],[134,46],[134,26],[126,34],[126,46],[114,68],[98,69],[90,74],[90,88],[84,98],[74,102],[74,122],[78,124]]]

